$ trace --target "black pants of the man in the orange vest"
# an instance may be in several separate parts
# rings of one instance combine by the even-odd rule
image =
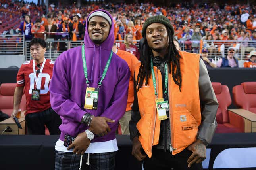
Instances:
[[[187,160],[191,154],[192,151],[187,149],[172,155],[169,151],[153,148],[152,157],[147,156],[143,161],[144,170],[202,170],[202,163],[194,163],[188,168]]]

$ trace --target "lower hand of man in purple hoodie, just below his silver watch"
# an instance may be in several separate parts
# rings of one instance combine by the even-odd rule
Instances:
[[[83,132],[77,135],[74,142],[71,145],[69,145],[67,150],[74,148],[73,153],[77,155],[83,155],[86,149],[89,147],[89,145],[90,145],[90,140],[87,138],[86,133]]]

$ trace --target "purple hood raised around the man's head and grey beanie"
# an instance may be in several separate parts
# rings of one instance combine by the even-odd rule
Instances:
[[[113,46],[113,43],[114,43],[114,21],[113,21],[113,18],[112,16],[110,15],[110,13],[108,13],[108,11],[105,11],[105,10],[102,10],[102,9],[99,9],[99,10],[96,10],[96,11],[92,11],[90,13],[90,15],[94,12],[97,12],[97,11],[102,11],[106,14],[108,14],[108,16],[111,18],[111,21],[112,21],[112,25],[110,25],[110,31],[109,31],[109,34],[108,34],[108,37],[106,38],[106,40],[100,45],[101,46],[101,49],[104,49],[104,50],[109,50],[111,51],[112,49],[112,46]],[[96,45],[94,42],[92,42],[92,40],[90,39],[89,37],[89,34],[88,34],[88,18],[89,16],[87,17],[86,19],[86,25],[85,25],[85,39],[84,39],[84,42],[85,42],[85,47],[87,48],[94,48],[94,45]],[[110,54],[110,52],[108,53]]]

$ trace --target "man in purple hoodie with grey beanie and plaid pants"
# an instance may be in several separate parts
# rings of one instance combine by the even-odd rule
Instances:
[[[114,170],[115,130],[125,113],[130,71],[112,52],[114,23],[107,11],[87,17],[84,42],[54,64],[50,102],[62,118],[55,170],[78,169],[85,162],[92,170]]]

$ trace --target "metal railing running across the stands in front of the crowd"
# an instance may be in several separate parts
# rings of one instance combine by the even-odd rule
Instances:
[[[46,38],[45,57],[55,60],[62,52],[83,44],[83,40],[71,41],[65,40],[60,36],[67,34],[66,32],[44,32],[45,35],[56,35],[54,38]],[[59,40],[56,40],[56,39]],[[25,41],[24,35],[0,35],[0,55],[25,55],[25,60],[31,60],[29,51],[29,42]],[[134,41],[139,48],[139,40]],[[117,45],[123,43],[123,40],[117,40]],[[219,58],[227,56],[228,49],[235,49],[235,57],[239,60],[247,60],[247,56],[252,50],[256,50],[256,41],[231,41],[231,40],[201,40],[201,41],[185,41],[179,40],[182,51],[191,53],[200,53],[202,48],[208,50],[208,58],[214,59],[216,62]]]

